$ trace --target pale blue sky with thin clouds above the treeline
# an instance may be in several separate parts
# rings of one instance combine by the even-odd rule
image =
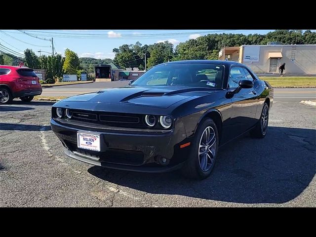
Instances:
[[[249,35],[272,31],[274,30],[0,30],[0,44],[2,49],[5,47],[13,50],[17,55],[23,54],[26,48],[32,49],[37,55],[50,55],[52,47],[48,39],[53,37],[55,51],[63,56],[65,49],[69,48],[79,57],[113,59],[113,48],[122,44],[135,44],[137,41],[144,45],[168,40],[175,47],[180,42],[207,34]]]

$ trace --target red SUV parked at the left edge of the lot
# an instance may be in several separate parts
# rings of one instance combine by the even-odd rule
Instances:
[[[10,103],[14,98],[29,102],[41,94],[42,88],[33,69],[0,65],[0,92],[0,103]]]

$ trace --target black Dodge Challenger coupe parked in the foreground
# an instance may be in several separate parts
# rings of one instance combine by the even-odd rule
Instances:
[[[127,86],[55,103],[51,128],[71,158],[203,179],[220,146],[248,131],[265,137],[272,103],[273,87],[243,64],[176,61]]]

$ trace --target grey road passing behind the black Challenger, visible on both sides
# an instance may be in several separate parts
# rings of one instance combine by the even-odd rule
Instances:
[[[94,82],[43,88],[42,96],[73,96],[127,85],[128,81]],[[276,101],[316,100],[316,88],[275,88]]]

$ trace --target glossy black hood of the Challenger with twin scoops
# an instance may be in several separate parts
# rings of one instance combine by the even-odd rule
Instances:
[[[184,86],[125,86],[104,89],[95,93],[72,96],[63,102],[91,102],[111,104],[132,104],[168,108],[187,98],[200,97],[216,90],[203,87]]]

